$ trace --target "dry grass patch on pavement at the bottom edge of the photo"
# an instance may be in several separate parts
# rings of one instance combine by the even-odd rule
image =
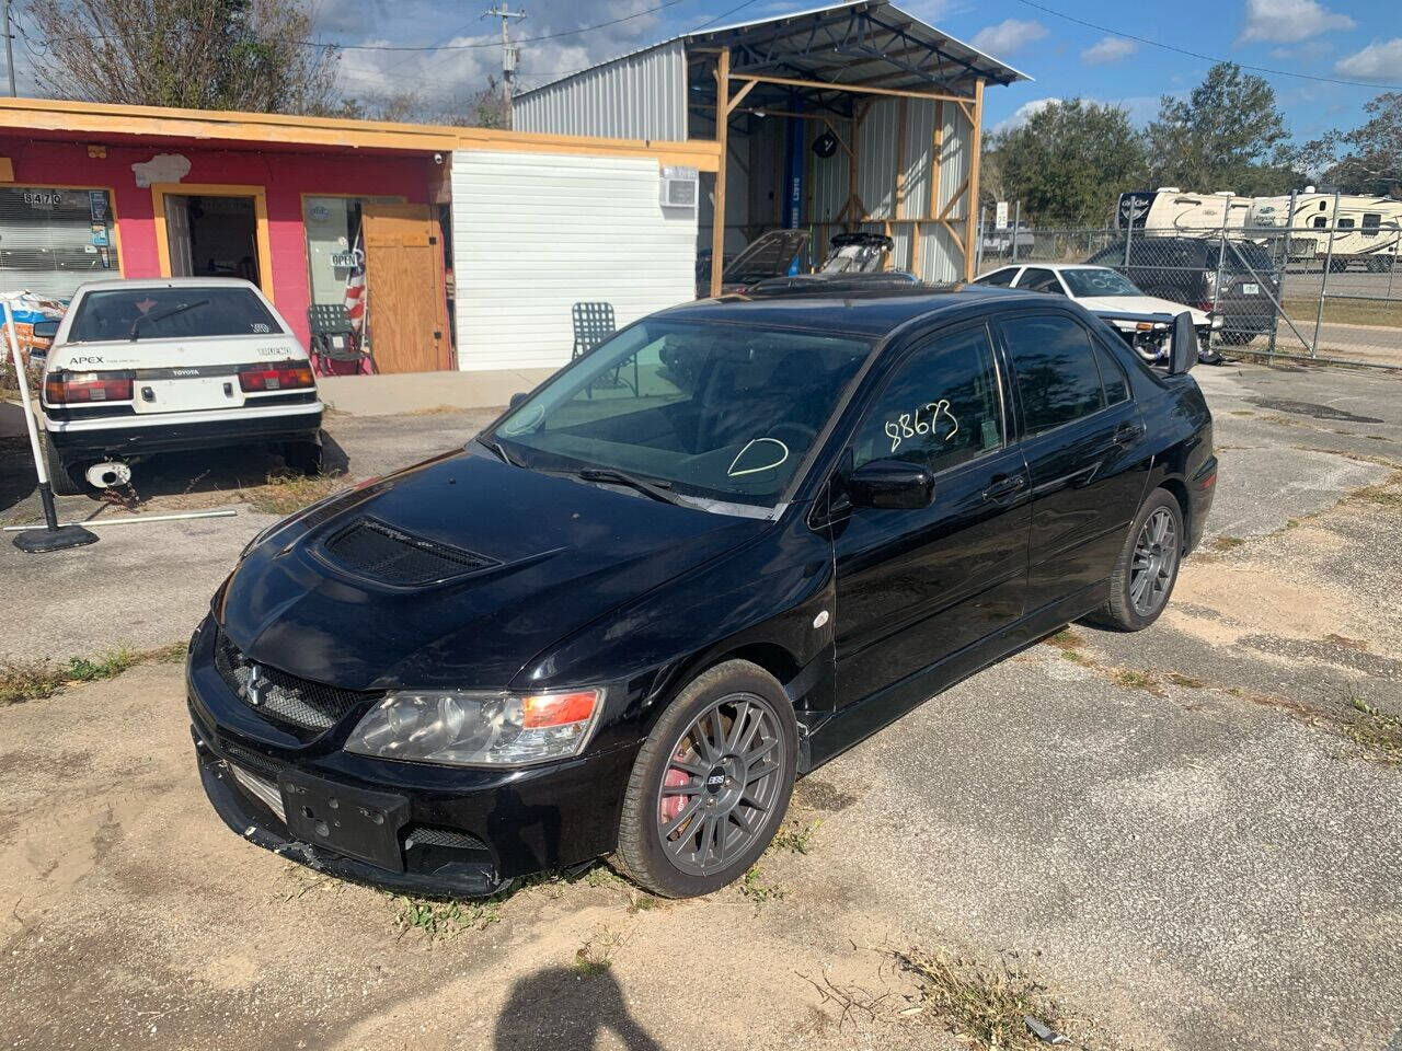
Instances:
[[[918,949],[893,956],[916,980],[923,1005],[962,1044],[1023,1051],[1043,1044],[1029,1029],[1029,1019],[1053,1031],[1066,1026],[1046,988],[1007,963],[986,967]]]

